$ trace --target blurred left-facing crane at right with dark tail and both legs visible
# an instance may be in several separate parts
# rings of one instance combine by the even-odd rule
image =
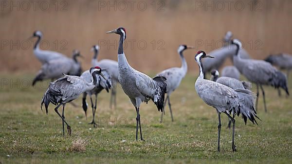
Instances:
[[[285,75],[282,76],[282,72],[266,61],[240,58],[240,56],[238,56],[238,50],[241,48],[241,43],[237,39],[234,39],[232,44],[237,46],[237,53],[233,56],[234,66],[236,66],[239,72],[241,72],[249,81],[256,83],[256,107],[258,88],[260,87],[263,94],[265,111],[267,112],[265,92],[262,85],[272,85],[275,88],[281,87],[286,91],[287,95],[289,95],[287,78]]]

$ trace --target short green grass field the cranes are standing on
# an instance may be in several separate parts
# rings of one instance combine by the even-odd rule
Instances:
[[[171,122],[168,107],[161,124],[161,113],[155,105],[150,101],[142,104],[140,114],[145,142],[135,141],[136,112],[120,87],[117,109],[109,108],[110,94],[103,91],[99,95],[97,128],[88,124],[92,118],[91,108],[86,120],[81,98],[74,101],[78,107],[67,104],[65,116],[72,127],[72,136],[63,136],[62,122],[54,106],[49,106],[48,115],[40,110],[46,88],[39,83],[36,88],[26,87],[23,81],[32,79],[33,74],[1,73],[0,77],[2,164],[292,162],[291,97],[279,98],[272,87],[264,87],[267,113],[260,95],[258,116],[262,121],[258,126],[251,122],[244,125],[241,117],[236,117],[237,152],[231,148],[232,131],[225,129],[227,116],[221,116],[221,152],[217,152],[218,116],[214,108],[198,97],[194,75],[188,75],[171,95],[174,122]],[[10,86],[17,79],[18,84]],[[9,84],[5,84],[6,80]]]

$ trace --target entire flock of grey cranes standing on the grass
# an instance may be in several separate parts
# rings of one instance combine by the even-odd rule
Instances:
[[[86,97],[89,95],[92,109],[93,127],[96,127],[95,112],[97,106],[97,95],[106,90],[110,95],[110,108],[116,108],[116,85],[120,83],[123,91],[128,96],[130,102],[136,111],[136,140],[140,130],[140,140],[144,141],[141,127],[140,105],[142,102],[152,100],[159,112],[165,115],[164,107],[168,101],[168,107],[171,114],[170,95],[178,89],[184,76],[187,73],[187,62],[183,56],[186,49],[194,47],[180,45],[177,49],[182,66],[171,67],[157,73],[156,77],[151,78],[146,74],[134,69],[128,63],[124,52],[124,42],[126,40],[126,29],[123,27],[106,32],[120,35],[117,61],[110,59],[98,60],[99,46],[92,46],[93,57],[91,68],[82,73],[81,63],[77,57],[81,56],[78,50],[73,50],[72,58],[55,51],[41,50],[39,48],[40,40],[43,34],[40,31],[33,33],[32,37],[37,37],[34,46],[34,54],[42,64],[41,69],[34,79],[33,85],[37,81],[52,80],[45,91],[41,100],[41,109],[45,106],[48,114],[49,104],[54,104],[55,113],[62,119],[63,135],[65,135],[64,126],[67,125],[67,134],[71,135],[71,126],[65,119],[65,105],[68,102],[82,96],[82,108],[87,117],[88,104]],[[245,124],[249,119],[253,124],[257,124],[260,118],[257,116],[257,100],[259,87],[262,90],[264,109],[267,112],[265,93],[262,85],[271,85],[275,88],[283,88],[289,95],[287,78],[292,68],[292,57],[287,54],[270,55],[264,60],[254,60],[250,58],[248,52],[241,48],[241,43],[237,39],[232,39],[233,33],[227,32],[223,41],[225,46],[222,49],[215,49],[209,54],[199,50],[195,55],[195,61],[199,66],[199,76],[195,81],[195,90],[199,97],[209,106],[216,109],[218,114],[218,151],[220,151],[220,130],[221,117],[224,113],[229,118],[228,127],[232,127],[232,150],[236,151],[235,146],[235,116],[241,115]],[[204,59],[205,58],[205,59]],[[226,66],[222,69],[222,77],[219,77],[218,69],[223,65],[226,58],[231,58],[234,66]],[[274,66],[288,70],[287,76],[280,72]],[[215,69],[215,70],[212,70]],[[211,71],[212,70],[212,71]],[[211,80],[207,80],[206,72],[211,71]],[[250,82],[240,80],[240,76],[245,76]],[[251,91],[251,82],[257,86],[256,94]],[[166,98],[164,95],[166,94]],[[95,101],[92,100],[95,95]],[[63,106],[62,115],[58,108]],[[177,109],[179,112],[180,109]]]

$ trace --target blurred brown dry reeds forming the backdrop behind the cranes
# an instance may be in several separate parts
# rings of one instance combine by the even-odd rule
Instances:
[[[42,11],[41,9],[46,6],[40,7],[41,0],[37,1],[36,11],[34,11],[33,3],[26,1],[30,3],[30,9],[24,11],[23,9],[27,7],[23,1],[6,1],[9,2],[8,7],[3,5],[6,3],[4,1],[1,1],[0,11],[0,71],[36,72],[39,69],[40,63],[33,55],[33,42],[29,42],[28,49],[24,49],[26,45],[21,45],[21,42],[31,36],[35,30],[43,32],[43,39],[50,43],[48,48],[50,50],[71,55],[73,49],[79,49],[85,56],[85,59],[81,60],[84,69],[90,66],[91,46],[101,40],[111,43],[118,41],[119,36],[105,32],[120,26],[127,29],[128,41],[136,40],[133,49],[127,48],[125,51],[129,63],[142,71],[159,71],[169,66],[180,66],[176,52],[179,44],[198,47],[198,42],[203,41],[205,43],[198,49],[206,51],[216,49],[219,46],[215,44],[205,48],[206,43],[212,43],[212,40],[218,43],[226,31],[232,31],[236,38],[241,39],[245,44],[244,48],[253,58],[262,59],[270,53],[292,53],[291,0],[234,0],[230,11],[225,0],[164,0],[164,3],[157,0],[155,11],[151,5],[152,0],[143,1],[147,4],[145,11],[140,11],[143,9],[143,4],[140,8],[137,7],[139,0],[133,3],[133,11],[128,2],[126,11],[121,11],[125,7],[122,3],[120,6],[117,5],[117,10],[114,11],[114,7],[110,10],[107,6],[101,7],[101,2],[98,0],[67,0],[67,4],[58,1],[59,6],[55,11],[55,1],[45,0],[46,3],[43,3],[49,2],[50,7],[48,11]],[[109,3],[109,0],[103,1]],[[214,11],[212,7],[205,9],[205,5],[199,7],[201,2],[212,5],[212,1]],[[10,8],[11,4],[18,2],[19,11],[17,7]],[[251,2],[254,6],[252,11]],[[110,3],[114,2],[110,1]],[[222,3],[225,8],[220,11]],[[239,11],[242,3],[244,8]],[[66,11],[60,11],[64,5]],[[164,11],[157,11],[160,6]],[[259,11],[255,11],[256,9]],[[58,48],[55,48],[55,40],[59,42]],[[67,50],[60,49],[63,45],[60,43],[62,40],[68,43],[65,46]],[[154,50],[153,40],[156,42]],[[163,40],[164,50],[159,50],[159,46],[163,43],[158,43],[159,40]],[[260,42],[256,42],[257,40]],[[10,42],[8,46],[3,45],[6,41]],[[18,46],[12,46],[11,41],[13,43],[19,41]],[[139,49],[138,41],[146,42],[146,49]],[[252,47],[248,44],[249,41],[253,42]],[[143,42],[141,47],[143,47]],[[262,45],[256,49],[259,43]],[[107,46],[101,47],[99,59],[116,59],[117,44],[115,48],[111,46],[109,49]],[[189,70],[197,69],[193,59],[196,51],[185,52]]]

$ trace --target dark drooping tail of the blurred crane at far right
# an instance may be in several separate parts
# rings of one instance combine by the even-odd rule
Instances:
[[[279,87],[283,88],[286,91],[287,95],[289,95],[288,86],[287,86],[287,77],[283,72],[277,70],[276,77],[271,78],[269,82],[275,88],[279,88]]]

